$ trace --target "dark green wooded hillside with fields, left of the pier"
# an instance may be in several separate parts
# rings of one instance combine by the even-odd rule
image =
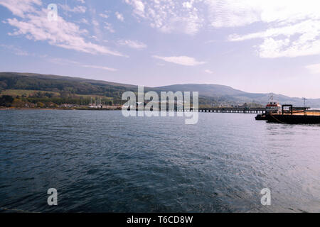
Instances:
[[[93,96],[119,104],[122,93],[128,90],[135,91],[137,87],[76,77],[0,72],[1,94],[15,96],[16,92],[16,96],[22,96],[33,103],[50,101],[55,104],[89,104]]]

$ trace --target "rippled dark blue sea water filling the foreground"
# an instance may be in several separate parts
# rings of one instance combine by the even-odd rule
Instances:
[[[0,212],[319,212],[320,126],[254,116],[0,111]]]

